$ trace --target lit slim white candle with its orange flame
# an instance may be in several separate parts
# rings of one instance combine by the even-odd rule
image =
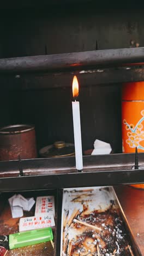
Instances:
[[[76,98],[78,95],[79,95],[79,83],[75,75],[73,78],[73,97],[75,101],[72,102],[74,140],[75,140],[75,161],[76,161],[76,169],[82,170],[83,162],[82,162],[82,146],[81,146],[80,104],[79,104],[79,101],[76,101]]]

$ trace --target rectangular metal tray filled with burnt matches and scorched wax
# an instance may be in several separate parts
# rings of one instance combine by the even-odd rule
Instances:
[[[68,254],[71,255],[71,251],[72,251],[71,241],[73,243],[76,243],[77,241],[79,241],[81,245],[85,244],[87,246],[88,242],[86,243],[85,241],[88,241],[89,237],[91,237],[91,240],[89,240],[91,242],[89,242],[89,246],[87,246],[86,248],[92,245],[91,248],[93,249],[94,244],[92,240],[95,239],[94,238],[95,236],[93,236],[95,234],[94,232],[95,225],[93,222],[96,220],[96,218],[94,219],[94,214],[96,214],[97,216],[98,213],[102,213],[103,218],[98,218],[96,220],[98,226],[101,228],[101,231],[102,231],[102,232],[99,230],[96,231],[96,234],[97,234],[96,237],[99,237],[99,241],[101,240],[101,238],[103,238],[105,241],[104,243],[105,246],[107,243],[107,247],[109,248],[109,245],[111,244],[111,246],[114,246],[117,249],[117,251],[119,251],[119,245],[122,246],[123,248],[124,246],[127,247],[127,249],[125,248],[125,251],[118,253],[119,255],[142,256],[140,249],[135,241],[133,232],[130,229],[128,220],[125,217],[122,206],[117,198],[117,195],[113,187],[66,188],[66,189],[63,189],[62,198],[63,198],[62,199],[63,201],[62,201],[62,211],[61,211],[62,212],[61,253],[59,253],[58,255],[62,255],[62,252],[64,253],[69,252]],[[110,217],[110,212],[112,208],[114,213],[113,220],[115,220],[115,224],[113,223]],[[85,220],[79,223],[81,214],[83,215],[83,219]],[[116,216],[116,219],[115,219],[115,216]],[[101,221],[102,220],[106,221],[107,219],[110,219],[107,222],[108,225],[105,225],[105,222],[103,222],[104,226],[101,225]],[[76,220],[78,220],[77,223],[80,225],[74,227],[74,223],[76,223]],[[84,229],[82,229],[83,223],[85,223]],[[91,223],[90,225],[91,227],[87,226],[87,223]],[[116,223],[118,224],[118,226],[116,225]],[[119,228],[119,226],[121,228]],[[106,229],[107,231],[105,231]],[[91,230],[91,233],[89,230]],[[112,231],[114,231],[114,234],[112,234]],[[122,237],[118,238],[119,237],[118,234],[121,234],[120,236]],[[127,236],[125,236],[126,234]],[[109,236],[111,238],[110,240],[108,240],[109,242],[106,242]],[[86,240],[85,240],[85,237],[86,237]],[[127,241],[126,243],[124,241],[124,237],[127,237],[125,240]],[[76,248],[79,248],[78,247],[79,242],[77,242]],[[96,242],[96,245],[97,245],[97,242]],[[128,249],[128,245],[130,249]],[[105,246],[103,246],[103,248]],[[85,254],[85,255],[88,255],[88,254]],[[93,253],[93,254],[96,255],[96,253]],[[102,254],[103,253],[99,253],[99,255],[102,255]],[[103,255],[106,255],[106,254],[103,254]],[[116,255],[118,254],[116,253]],[[111,253],[109,255],[115,255],[115,253]]]

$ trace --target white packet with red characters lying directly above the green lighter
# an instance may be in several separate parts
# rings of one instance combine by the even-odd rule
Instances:
[[[43,229],[48,228],[49,226],[55,226],[54,217],[50,214],[41,214],[39,216],[20,218],[19,232],[33,229]]]

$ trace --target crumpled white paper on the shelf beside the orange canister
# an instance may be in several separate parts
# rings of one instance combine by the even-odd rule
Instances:
[[[94,142],[94,150],[92,152],[92,155],[106,155],[111,153],[111,145],[109,143],[106,143],[104,141],[100,141],[99,139],[96,139]]]

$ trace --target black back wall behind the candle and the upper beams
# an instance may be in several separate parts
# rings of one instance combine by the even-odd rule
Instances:
[[[1,5],[0,14],[1,58],[129,48],[131,39],[144,44],[139,3],[8,1]],[[34,124],[38,149],[56,140],[74,142],[73,75],[9,77],[8,84],[1,83],[0,125]],[[77,77],[83,150],[92,148],[98,138],[121,152],[122,84],[94,83],[94,74],[88,79],[82,74]]]

